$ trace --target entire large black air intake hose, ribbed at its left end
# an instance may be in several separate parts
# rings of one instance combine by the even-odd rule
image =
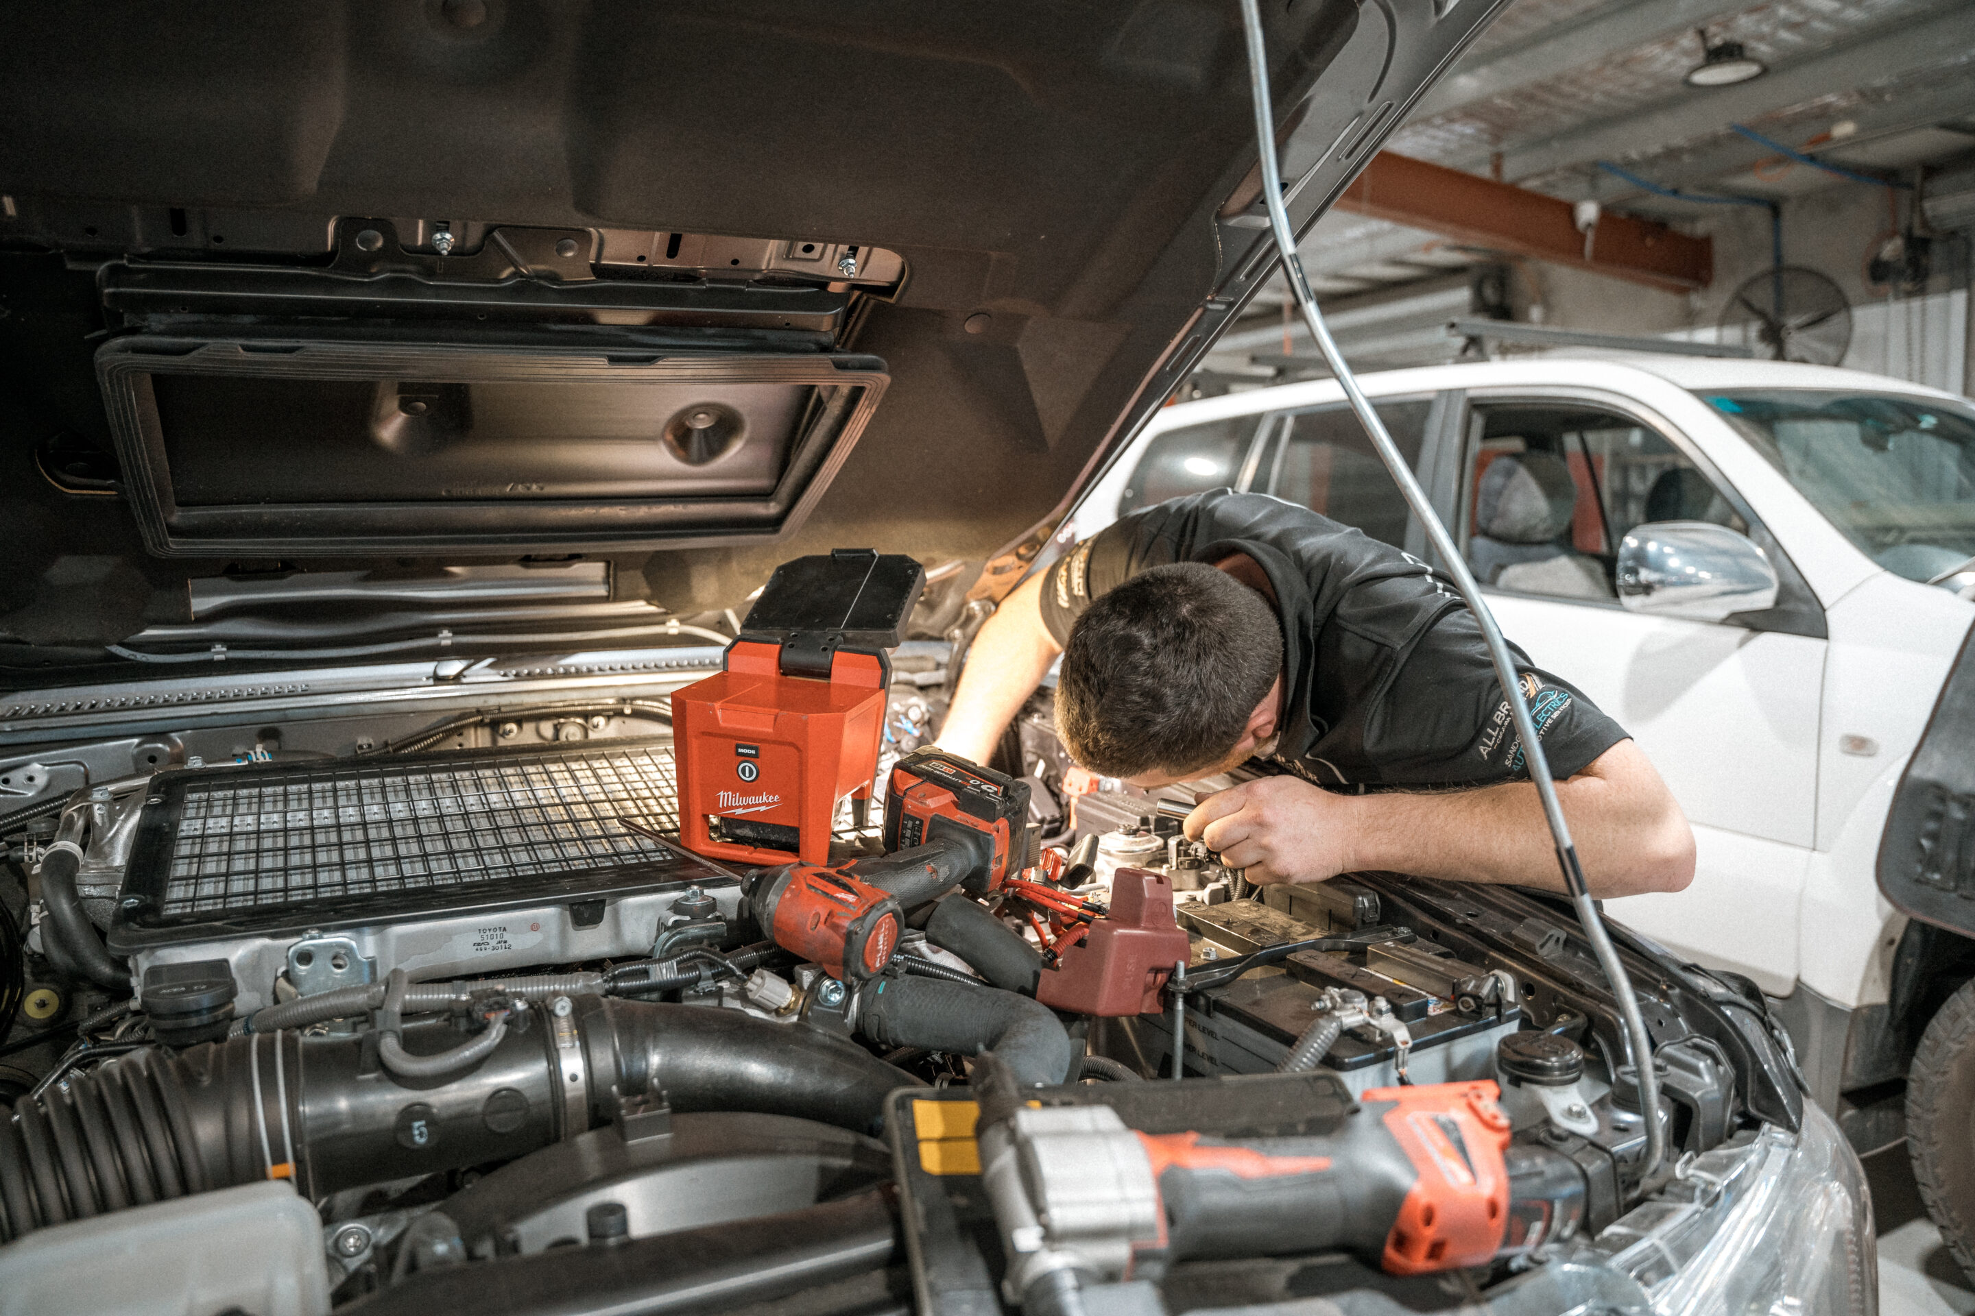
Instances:
[[[490,1054],[444,1083],[401,1081],[377,1063],[373,1038],[255,1032],[154,1046],[22,1099],[0,1123],[0,1241],[265,1178],[320,1198],[510,1160],[608,1123],[620,1095],[869,1133],[885,1095],[912,1083],[814,1030],[596,996],[567,1016],[517,1008]],[[401,1034],[411,1056],[464,1040],[448,1018]]]

